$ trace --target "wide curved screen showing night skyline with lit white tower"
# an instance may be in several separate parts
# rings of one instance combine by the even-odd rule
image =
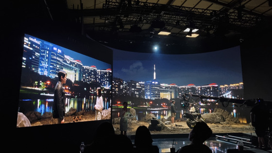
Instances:
[[[244,100],[239,46],[194,54],[161,54],[159,49],[154,53],[113,50],[113,68],[112,118],[120,117],[120,107],[126,101],[135,109],[137,120],[153,114],[165,122],[170,120],[170,104],[175,101],[175,119],[179,121],[186,121],[185,113],[194,107],[202,115],[221,108],[235,123],[251,122],[251,107],[239,103]]]

